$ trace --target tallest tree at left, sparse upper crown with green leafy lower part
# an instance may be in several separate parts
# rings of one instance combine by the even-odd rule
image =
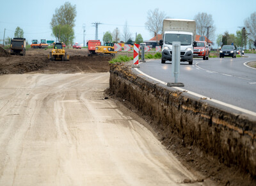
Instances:
[[[74,39],[76,13],[76,5],[72,6],[69,2],[56,8],[50,24],[52,35],[58,38],[59,42],[72,42]]]

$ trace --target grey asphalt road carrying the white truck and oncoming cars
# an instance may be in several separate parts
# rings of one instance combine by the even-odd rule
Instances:
[[[204,97],[221,108],[238,114],[256,116],[256,69],[245,66],[248,61],[256,61],[255,54],[245,54],[248,58],[194,58],[193,65],[180,63],[178,82],[192,97]],[[133,71],[149,81],[166,87],[167,82],[174,82],[172,62],[161,64],[160,60],[140,63],[140,68]],[[198,95],[199,94],[199,95]]]

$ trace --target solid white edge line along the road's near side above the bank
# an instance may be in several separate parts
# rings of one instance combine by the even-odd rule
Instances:
[[[140,74],[143,74],[143,75],[145,75],[146,77],[148,77],[148,78],[150,78],[150,79],[153,79],[154,81],[157,81],[157,82],[160,82],[161,84],[167,85],[167,82],[164,82],[164,81],[161,81],[161,80],[156,79],[156,78],[154,78],[154,77],[151,77],[150,75],[147,75],[147,74],[145,74],[144,72],[141,72],[141,70],[138,70],[138,68],[135,68],[135,70],[137,70]],[[234,110],[236,110],[236,111],[240,111],[240,112],[244,112],[244,113],[246,113],[246,114],[250,114],[250,115],[252,115],[252,116],[256,116],[256,112],[249,111],[249,110],[247,110],[247,109],[243,109],[243,108],[237,107],[237,106],[235,106],[235,105],[227,104],[227,103],[225,103],[225,102],[221,102],[221,101],[219,101],[219,100],[215,100],[215,99],[212,99],[212,98],[209,98],[209,97],[205,97],[204,95],[200,95],[200,94],[198,94],[198,93],[194,93],[193,91],[189,91],[189,90],[187,90],[187,89],[183,89],[183,88],[179,88],[179,87],[173,87],[173,88],[178,89],[178,90],[180,90],[180,91],[186,91],[186,92],[189,93],[190,95],[193,95],[193,96],[198,97],[198,98],[204,98],[205,100],[209,100],[209,101],[211,101],[211,102],[214,102],[214,103],[216,103],[216,104],[223,105],[223,106],[225,106],[225,107],[234,109]]]

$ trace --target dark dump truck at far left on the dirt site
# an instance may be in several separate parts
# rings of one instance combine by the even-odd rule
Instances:
[[[20,54],[25,56],[26,54],[26,39],[25,38],[13,38],[11,40],[10,54]]]

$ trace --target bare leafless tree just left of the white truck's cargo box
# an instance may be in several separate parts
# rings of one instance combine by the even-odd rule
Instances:
[[[152,33],[154,36],[163,31],[163,20],[166,17],[164,12],[159,12],[159,9],[156,8],[154,11],[149,10],[147,16],[147,22],[145,23],[146,28]]]

